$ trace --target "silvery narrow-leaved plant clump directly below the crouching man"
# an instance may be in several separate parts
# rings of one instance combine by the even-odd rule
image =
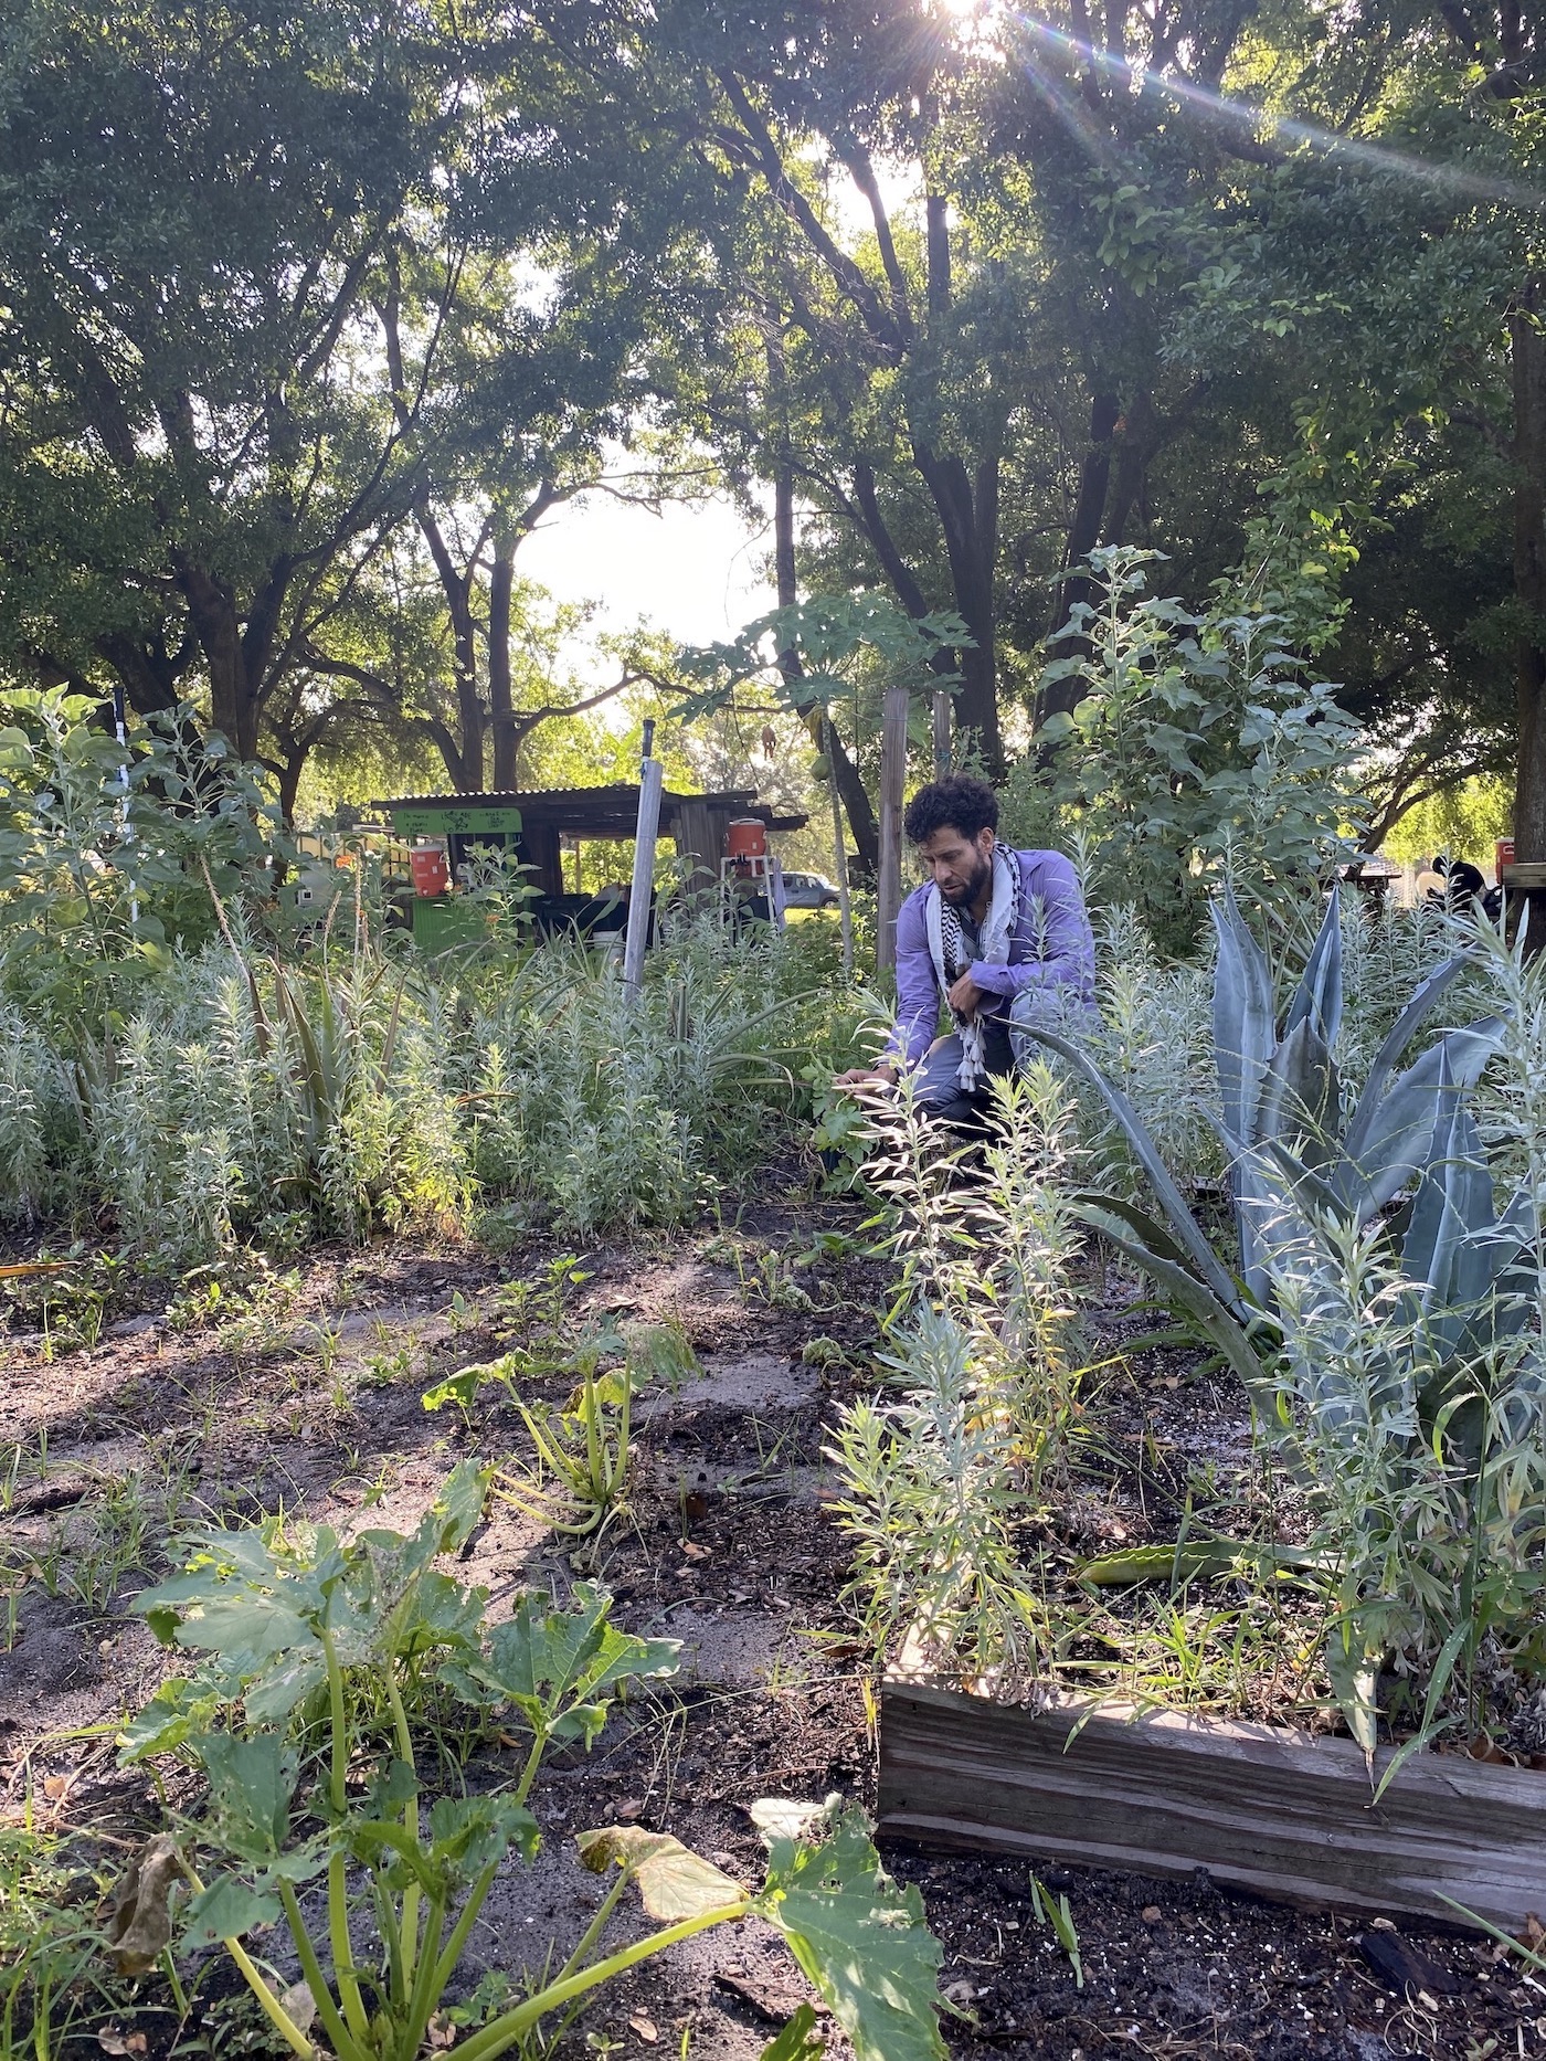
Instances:
[[[878,1125],[872,1179],[905,1265],[880,1366],[901,1395],[845,1408],[829,1457],[855,1546],[847,1595],[876,1651],[911,1628],[934,1665],[1018,1682],[1047,1657],[1020,1529],[1066,1484],[1082,1432],[1072,1105],[1045,1066],[998,1096],[981,1185],[938,1152],[907,1078]]]

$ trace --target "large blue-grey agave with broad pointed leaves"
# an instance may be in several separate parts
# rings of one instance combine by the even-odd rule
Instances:
[[[1185,1311],[1237,1369],[1272,1420],[1274,1387],[1264,1358],[1276,1350],[1272,1259],[1317,1224],[1369,1224],[1416,1183],[1391,1237],[1420,1296],[1445,1362],[1484,1350],[1497,1317],[1492,1290],[1523,1241],[1523,1197],[1501,1218],[1480,1136],[1464,1096],[1499,1047],[1503,1018],[1447,1030],[1404,1072],[1406,1049],[1468,965],[1457,954],[1402,1010],[1375,1053],[1363,1092],[1346,1109],[1332,1057],[1342,1022],[1342,913],[1334,892],[1282,1024],[1274,1018],[1266,954],[1233,892],[1212,905],[1218,936],[1214,977],[1216,1117],[1231,1164],[1239,1272],[1224,1265],[1187,1206],[1132,1103],[1080,1047],[1055,1030],[1027,1037],[1057,1051],[1103,1096],[1158,1214],[1119,1195],[1082,1193],[1078,1216],[1140,1265],[1167,1300]],[[1490,1315],[1488,1315],[1490,1313]],[[1490,1336],[1490,1333],[1488,1333]]]

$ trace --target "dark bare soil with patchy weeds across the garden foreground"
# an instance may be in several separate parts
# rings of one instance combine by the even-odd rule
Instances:
[[[583,1929],[600,1894],[567,1843],[583,1826],[668,1828],[752,1882],[757,1797],[872,1801],[874,1739],[839,1603],[847,1550],[825,1507],[822,1443],[841,1401],[870,1385],[882,1274],[855,1257],[800,1263],[822,1224],[851,1228],[853,1212],[769,1210],[719,1237],[585,1255],[592,1278],[573,1290],[571,1317],[680,1325],[703,1364],[645,1401],[635,1521],[600,1554],[618,1620],[680,1638],[682,1674],[614,1721],[590,1758],[546,1766],[534,1797],[546,1851],[497,1886],[468,1987],[536,1966],[550,1941],[563,1952]],[[144,1311],[109,1313],[91,1350],[52,1358],[19,1315],[4,1362],[16,1449],[0,1453],[14,1612],[0,1655],[0,1828],[70,1834],[62,1894],[85,1913],[97,1902],[91,1871],[111,1876],[159,1822],[144,1772],[115,1768],[111,1733],[161,1678],[161,1651],[124,1603],[161,1573],[167,1527],[278,1505],[344,1527],[410,1527],[458,1457],[519,1451],[501,1391],[484,1389],[470,1422],[453,1408],[427,1414],[421,1393],[509,1342],[530,1296],[505,1284],[540,1282],[554,1255],[322,1253],[293,1280],[260,1284],[245,1307],[227,1294],[200,1313],[186,1294],[175,1323],[142,1284],[126,1300],[140,1294]],[[1090,1544],[1148,1535],[1187,1467],[1239,1459],[1243,1412],[1224,1387],[1187,1383],[1163,1354],[1140,1354],[1134,1381],[1107,1420],[1113,1467],[1080,1505]],[[559,1377],[550,1395],[567,1387]],[[1146,1461],[1156,1445],[1144,1426],[1167,1459]],[[563,1593],[575,1573],[592,1573],[587,1548],[511,1507],[458,1568],[493,1589],[495,1608],[526,1585]],[[507,1772],[495,1754],[468,1781]],[[1068,1896],[1078,1931],[1078,1987],[1037,1923],[1024,1863],[895,1849],[890,1865],[919,1884],[944,1939],[944,1983],[967,2014],[946,2030],[963,2055],[1546,2055],[1546,1987],[1441,1927],[1358,1927],[1208,1882],[1049,1867],[1041,1882]],[[744,1925],[647,1966],[583,2024],[592,2049],[752,2057],[804,1993],[777,1941]],[[146,1981],[132,1997],[89,1999],[66,2047],[101,2051],[103,2026],[117,2028],[109,2053],[138,2032],[159,2053],[175,2014]],[[202,1976],[179,2038],[186,2053],[262,2045],[223,1962]]]

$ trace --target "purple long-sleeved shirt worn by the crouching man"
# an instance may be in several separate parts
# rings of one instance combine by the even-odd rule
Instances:
[[[973,981],[994,1000],[983,1016],[1008,1022],[1014,998],[1027,987],[1064,987],[1070,1000],[1095,1002],[1095,938],[1084,915],[1078,874],[1062,851],[1010,851],[1006,859],[1020,868],[1020,921],[1010,938],[1010,956],[1002,967],[977,960],[969,971]],[[901,905],[897,917],[897,1030],[890,1051],[915,1066],[934,1043],[940,1024],[940,983],[934,977],[928,923],[923,909],[928,886],[917,888]]]

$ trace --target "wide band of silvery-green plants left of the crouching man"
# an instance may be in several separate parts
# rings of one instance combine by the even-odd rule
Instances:
[[[474,1195],[573,1230],[678,1222],[810,1109],[858,1004],[825,940],[680,919],[643,998],[579,944],[441,971],[363,940],[315,958],[173,958],[99,1033],[0,1061],[0,1212],[111,1208],[171,1268],[309,1228],[456,1228]],[[773,1129],[771,1129],[773,1127]]]

